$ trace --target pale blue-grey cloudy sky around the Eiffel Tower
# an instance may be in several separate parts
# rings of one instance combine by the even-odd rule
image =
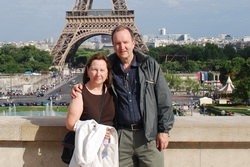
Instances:
[[[234,38],[250,36],[250,0],[126,0],[135,11],[139,32]],[[75,0],[1,0],[0,42],[55,40],[65,26],[65,12]],[[111,9],[112,0],[93,0],[93,9]]]

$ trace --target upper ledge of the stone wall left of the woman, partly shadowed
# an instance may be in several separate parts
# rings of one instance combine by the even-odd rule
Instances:
[[[1,117],[0,141],[62,141],[65,117]]]

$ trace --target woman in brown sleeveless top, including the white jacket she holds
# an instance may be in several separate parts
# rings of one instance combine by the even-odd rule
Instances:
[[[79,148],[76,142],[75,152],[72,157],[73,160],[71,159],[70,166],[78,166],[79,161],[81,161],[81,165],[87,164],[85,160],[89,159],[89,157],[86,158],[86,156],[90,156],[90,154],[95,156],[95,159],[91,160],[91,163],[92,161],[94,163],[92,166],[118,166],[118,136],[115,129],[111,127],[113,126],[113,119],[115,117],[115,103],[111,89],[109,89],[111,84],[112,72],[107,57],[101,53],[93,55],[85,66],[82,93],[77,93],[77,97],[71,100],[68,109],[66,127],[71,131],[76,131],[76,141],[78,142],[80,140],[79,145],[84,147]],[[92,125],[90,124],[90,126],[85,126],[85,129],[79,130],[83,127],[83,124],[88,122],[83,120],[95,120],[99,124],[89,128]],[[102,128],[104,127],[102,132],[98,131],[101,129],[99,128],[100,125]],[[86,131],[86,129],[93,130]],[[101,135],[102,138],[99,137],[100,133],[103,134]],[[84,139],[82,139],[82,136],[84,136]],[[93,143],[93,141],[97,141],[96,139],[99,143]],[[86,140],[88,140],[87,143]],[[117,151],[108,155],[106,150],[107,145],[105,145],[107,143],[110,143],[112,146],[115,144],[116,146],[113,148]],[[91,149],[89,149],[90,147]],[[96,149],[96,147],[98,147],[98,149]],[[84,150],[86,148],[87,150]],[[96,153],[93,153],[93,149],[96,150]],[[79,154],[75,155],[77,152],[80,154],[85,152],[85,157],[76,162],[74,156],[79,157]],[[110,150],[108,152],[110,153]],[[114,158],[114,156],[116,158]],[[115,160],[110,164],[110,159],[112,158],[117,159],[117,161]]]

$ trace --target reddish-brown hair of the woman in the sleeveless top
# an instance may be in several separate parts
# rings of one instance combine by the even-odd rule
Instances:
[[[90,68],[94,60],[104,60],[106,62],[108,69],[108,76],[107,79],[104,81],[104,84],[107,86],[107,88],[109,88],[112,84],[112,70],[107,56],[103,53],[96,53],[93,56],[91,56],[90,59],[88,60],[87,64],[85,65],[83,73],[83,84],[86,84],[89,81],[88,68]]]

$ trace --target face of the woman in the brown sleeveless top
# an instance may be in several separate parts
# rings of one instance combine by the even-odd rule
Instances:
[[[104,60],[94,60],[88,68],[90,82],[103,84],[108,77],[107,64]]]

